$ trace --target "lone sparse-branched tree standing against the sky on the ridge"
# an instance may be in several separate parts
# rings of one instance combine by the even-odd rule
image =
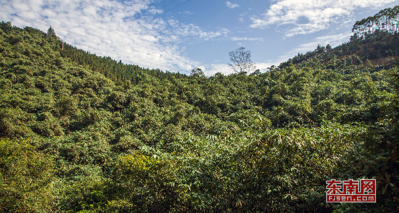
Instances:
[[[233,62],[229,63],[229,66],[236,73],[251,72],[256,68],[255,63],[251,60],[251,51],[245,51],[244,47],[229,52],[229,55]]]

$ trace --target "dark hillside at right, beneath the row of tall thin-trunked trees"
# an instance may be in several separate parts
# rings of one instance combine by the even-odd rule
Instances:
[[[399,33],[376,30],[366,37],[353,35],[349,42],[337,47],[318,45],[315,50],[290,58],[279,65],[280,68],[292,63],[297,67],[322,67],[345,69],[350,65],[370,63],[370,71],[389,69],[398,64]]]

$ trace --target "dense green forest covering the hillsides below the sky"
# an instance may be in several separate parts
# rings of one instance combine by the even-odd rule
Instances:
[[[0,211],[399,211],[398,48],[375,30],[187,76],[1,22]],[[332,178],[376,178],[377,202],[326,203]]]

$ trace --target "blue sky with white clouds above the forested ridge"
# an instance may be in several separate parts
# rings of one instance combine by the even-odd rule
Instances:
[[[399,0],[1,0],[0,19],[55,33],[124,63],[231,73],[241,46],[262,71],[317,44],[349,41],[356,20]]]

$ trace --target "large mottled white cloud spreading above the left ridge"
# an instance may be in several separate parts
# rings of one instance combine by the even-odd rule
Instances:
[[[179,43],[227,36],[195,24],[163,19],[152,0],[12,0],[1,1],[0,18],[43,31],[51,25],[68,43],[91,53],[144,67],[189,73],[200,62],[185,56]],[[17,15],[12,15],[15,13]],[[189,12],[185,12],[190,14]],[[24,18],[21,18],[23,16]]]

